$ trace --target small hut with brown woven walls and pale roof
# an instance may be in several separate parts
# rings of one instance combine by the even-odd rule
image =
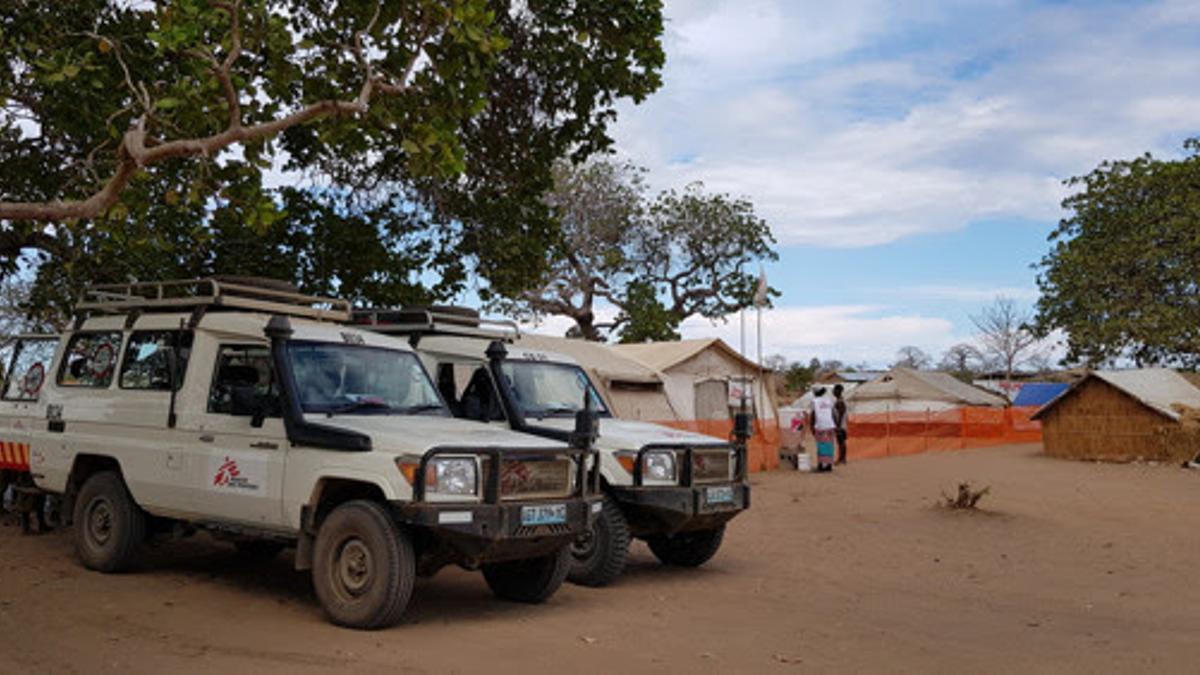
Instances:
[[[1170,369],[1087,374],[1033,414],[1045,453],[1086,460],[1176,460],[1193,456],[1175,434],[1200,389]]]

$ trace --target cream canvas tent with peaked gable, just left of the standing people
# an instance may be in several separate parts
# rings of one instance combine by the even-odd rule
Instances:
[[[658,372],[674,422],[680,429],[728,437],[743,393],[755,417],[750,464],[756,470],[779,465],[779,411],[769,374],[722,340],[679,340],[613,345],[612,350]]]

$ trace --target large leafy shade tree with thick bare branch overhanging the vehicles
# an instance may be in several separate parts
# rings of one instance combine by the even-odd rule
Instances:
[[[658,0],[14,0],[0,271],[54,261],[35,295],[58,298],[263,270],[420,301],[468,262],[526,286],[554,159],[605,148],[616,102],[658,88],[661,30]],[[307,189],[269,187],[281,168]]]

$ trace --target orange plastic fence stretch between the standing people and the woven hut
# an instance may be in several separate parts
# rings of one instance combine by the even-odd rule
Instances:
[[[869,459],[1042,441],[1037,407],[851,414],[847,453]]]

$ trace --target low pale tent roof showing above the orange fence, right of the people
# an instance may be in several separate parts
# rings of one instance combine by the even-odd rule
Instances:
[[[946,372],[893,368],[846,395],[851,413],[938,412],[959,407],[1003,407],[1002,396]]]

